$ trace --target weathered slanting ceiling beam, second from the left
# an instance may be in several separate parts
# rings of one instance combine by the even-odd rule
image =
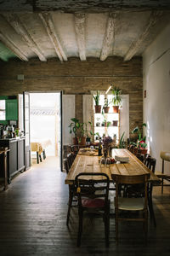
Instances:
[[[20,19],[17,15],[7,14],[3,17],[8,20],[8,23],[13,26],[15,32],[21,36],[21,38],[26,42],[30,49],[37,54],[40,61],[47,61],[46,57],[42,54],[42,50],[39,49],[38,45],[31,38],[29,32],[27,32],[26,27],[20,22]]]

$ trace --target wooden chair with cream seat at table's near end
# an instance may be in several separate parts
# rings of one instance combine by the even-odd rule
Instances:
[[[147,184],[150,174],[144,175],[135,175],[135,176],[122,176],[115,175],[113,181],[116,183],[116,198],[115,198],[115,212],[116,212],[116,241],[118,241],[118,222],[119,221],[141,221],[144,224],[144,234],[145,240],[147,238],[148,230],[148,191]],[[120,184],[125,185],[134,185],[134,184],[144,184],[144,198],[128,198],[128,197],[119,197],[118,196],[118,186]],[[141,211],[143,216],[139,218],[125,218],[120,217],[120,211]]]

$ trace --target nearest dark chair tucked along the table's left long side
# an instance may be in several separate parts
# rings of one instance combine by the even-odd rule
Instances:
[[[68,159],[64,160],[64,167],[65,167],[66,173],[68,174],[70,171]],[[76,206],[77,206],[77,190],[74,184],[69,184],[69,201],[68,201],[68,210],[67,210],[67,218],[66,218],[67,226],[69,225],[71,207],[75,207],[75,205],[73,206],[72,204],[73,202],[76,202]]]

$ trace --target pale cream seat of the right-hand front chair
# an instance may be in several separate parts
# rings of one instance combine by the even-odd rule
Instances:
[[[118,208],[125,211],[144,210],[144,198],[119,197]]]

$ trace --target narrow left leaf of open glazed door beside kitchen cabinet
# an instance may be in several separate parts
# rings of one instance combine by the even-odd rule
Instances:
[[[24,96],[24,133],[26,137],[25,143],[25,164],[26,170],[31,167],[31,145],[30,145],[30,94],[23,92]]]

